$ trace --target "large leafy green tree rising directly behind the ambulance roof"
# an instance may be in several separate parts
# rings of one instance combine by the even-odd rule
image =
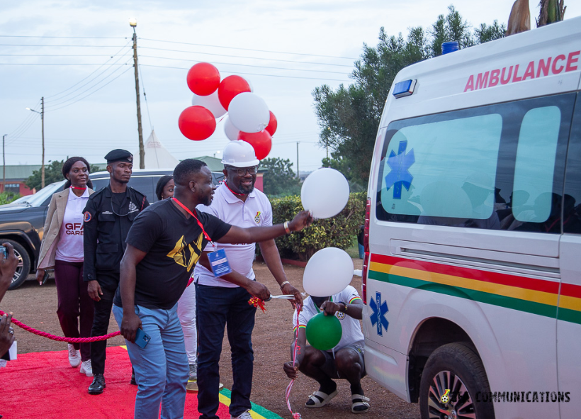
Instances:
[[[366,185],[381,113],[397,72],[441,55],[446,41],[457,40],[460,48],[468,48],[502,38],[505,30],[504,24],[495,21],[472,31],[453,6],[429,30],[410,28],[405,39],[401,33],[388,36],[380,28],[375,48],[363,44],[361,59],[354,63],[350,76],[353,84],[341,84],[336,90],[323,85],[312,92],[321,128],[319,144],[332,149],[333,158],[323,165],[337,168],[351,182]]]

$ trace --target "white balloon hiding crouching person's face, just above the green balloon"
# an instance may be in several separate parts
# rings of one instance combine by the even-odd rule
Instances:
[[[309,259],[303,273],[303,288],[310,296],[338,294],[353,279],[353,259],[344,250],[326,247]]]

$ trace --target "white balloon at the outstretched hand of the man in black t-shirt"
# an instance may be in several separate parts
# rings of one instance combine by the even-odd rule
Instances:
[[[315,170],[303,182],[300,201],[315,218],[337,216],[349,201],[349,182],[335,169]]]

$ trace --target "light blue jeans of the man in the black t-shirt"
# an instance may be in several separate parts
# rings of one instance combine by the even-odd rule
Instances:
[[[189,369],[176,308],[135,306],[143,331],[151,337],[145,348],[125,340],[137,381],[135,419],[158,419],[160,404],[162,419],[184,418]],[[120,325],[123,308],[113,305],[113,315]]]

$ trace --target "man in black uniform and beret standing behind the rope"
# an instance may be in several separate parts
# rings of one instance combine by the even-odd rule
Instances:
[[[113,296],[119,285],[119,264],[125,252],[125,238],[135,217],[150,205],[145,195],[127,187],[133,155],[118,149],[109,152],[105,159],[111,177],[109,185],[89,196],[83,211],[83,276],[89,296],[95,301],[91,336],[107,334]],[[106,347],[106,340],[91,342],[94,379],[89,394],[101,394],[105,388]]]

